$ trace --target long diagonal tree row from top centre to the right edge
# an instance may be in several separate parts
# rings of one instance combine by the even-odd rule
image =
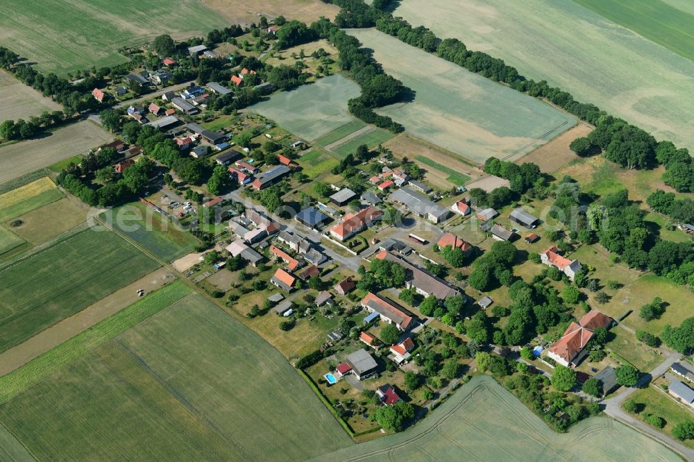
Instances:
[[[486,78],[505,83],[536,98],[551,101],[570,114],[595,126],[589,134],[582,153],[600,150],[607,159],[629,169],[650,169],[657,164],[666,167],[663,181],[677,191],[694,190],[694,162],[685,148],[677,149],[672,142],[657,142],[652,135],[623,119],[613,117],[598,106],[581,103],[573,96],[560,89],[550,87],[545,80],[536,82],[518,73],[518,70],[507,65],[499,58],[493,58],[482,51],[470,51],[466,45],[455,38],[441,40],[432,31],[423,26],[413,28],[402,18],[393,17],[387,8],[391,1],[380,0],[374,6],[368,6],[362,0],[333,0],[341,7],[335,22],[341,27],[372,27],[379,31],[398,37],[399,40],[417,46],[440,58],[482,74]],[[661,155],[657,155],[660,152]]]

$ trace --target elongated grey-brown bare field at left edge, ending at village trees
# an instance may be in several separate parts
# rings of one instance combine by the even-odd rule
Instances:
[[[0,183],[85,153],[112,139],[113,136],[101,126],[85,120],[60,128],[43,138],[3,146],[0,148]]]

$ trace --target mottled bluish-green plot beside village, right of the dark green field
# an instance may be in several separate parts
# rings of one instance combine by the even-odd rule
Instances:
[[[139,202],[103,212],[100,217],[167,262],[187,255],[198,243],[192,234]]]

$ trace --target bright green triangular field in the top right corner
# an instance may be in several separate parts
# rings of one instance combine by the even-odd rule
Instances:
[[[667,49],[694,58],[694,15],[661,0],[573,0]]]

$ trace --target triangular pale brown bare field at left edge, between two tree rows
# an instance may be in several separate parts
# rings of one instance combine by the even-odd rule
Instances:
[[[0,122],[28,119],[44,111],[62,111],[62,106],[24,85],[7,71],[0,70]]]

